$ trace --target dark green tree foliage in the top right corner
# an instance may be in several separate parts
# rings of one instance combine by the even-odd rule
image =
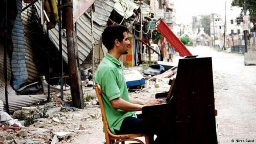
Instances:
[[[237,6],[242,8],[244,12],[244,0],[233,0],[232,6]],[[249,11],[250,21],[254,25],[254,31],[256,32],[256,1],[255,0],[246,0],[246,11]]]

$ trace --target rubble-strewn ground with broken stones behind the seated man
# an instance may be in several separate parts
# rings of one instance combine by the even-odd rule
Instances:
[[[142,67],[133,67],[126,73],[133,69],[142,71]],[[156,92],[168,90],[168,82],[168,78],[147,81],[144,88],[130,90],[129,95],[147,101],[154,98]],[[12,117],[6,113],[7,118],[1,117],[0,143],[103,143],[105,135],[95,90],[84,87],[83,91],[85,109],[70,107],[70,91],[65,91],[64,100],[59,98],[59,92],[52,92],[49,103],[23,107]],[[9,119],[16,119],[16,123],[10,125]]]

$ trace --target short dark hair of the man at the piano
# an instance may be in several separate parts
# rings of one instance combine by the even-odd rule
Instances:
[[[128,28],[120,25],[110,25],[106,27],[102,33],[102,43],[109,50],[114,47],[114,42],[123,41],[123,32],[127,32]]]

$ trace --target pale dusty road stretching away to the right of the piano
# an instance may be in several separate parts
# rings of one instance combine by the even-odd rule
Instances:
[[[244,66],[243,54],[217,52],[209,47],[190,47],[193,55],[211,56],[216,122],[221,144],[231,140],[256,143],[256,66]],[[239,141],[238,143],[242,143]]]

